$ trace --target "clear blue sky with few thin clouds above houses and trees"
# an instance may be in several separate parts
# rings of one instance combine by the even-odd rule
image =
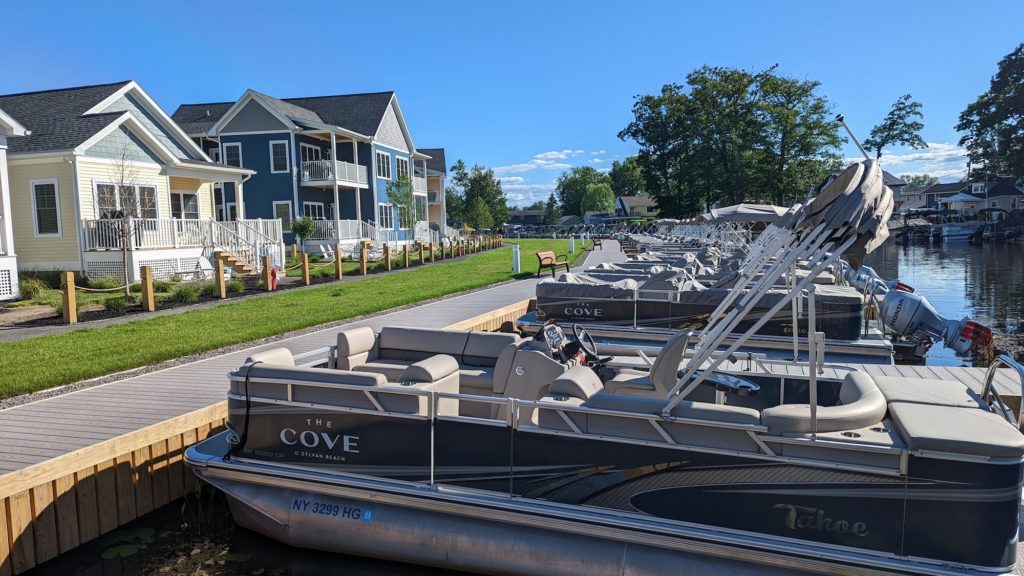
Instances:
[[[953,130],[1024,41],[1024,2],[12,2],[0,93],[135,79],[182,102],[395,90],[418,147],[494,167],[513,204],[574,165],[636,151],[633,96],[703,64],[815,79],[866,137],[910,92],[926,151],[896,173],[953,179]],[[42,23],[18,26],[16,23]],[[853,157],[855,150],[846,151]]]

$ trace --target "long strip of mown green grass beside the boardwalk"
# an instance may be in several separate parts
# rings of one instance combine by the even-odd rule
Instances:
[[[567,240],[518,243],[524,271],[536,272],[540,250],[568,252]],[[581,249],[569,255],[571,261],[583,254],[577,246]],[[178,315],[3,342],[0,398],[497,284],[513,278],[510,254],[508,248],[489,250],[359,282],[343,280]]]

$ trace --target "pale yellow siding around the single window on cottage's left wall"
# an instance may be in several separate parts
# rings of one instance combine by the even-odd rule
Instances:
[[[78,270],[78,217],[75,210],[75,182],[72,166],[62,160],[45,164],[9,163],[10,169],[10,222],[17,246],[17,264],[20,270]],[[32,211],[31,180],[56,178],[60,206],[59,237],[36,238],[35,214]],[[74,268],[62,262],[75,262]]]

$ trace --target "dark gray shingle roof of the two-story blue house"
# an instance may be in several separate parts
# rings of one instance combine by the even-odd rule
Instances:
[[[254,90],[255,91],[255,90]],[[377,133],[393,91],[338,94],[305,98],[274,98],[257,92],[268,105],[296,120],[323,122],[372,136]],[[207,133],[234,102],[189,104],[178,107],[171,118],[191,135]],[[209,116],[207,116],[209,112]],[[187,126],[187,128],[186,128]]]

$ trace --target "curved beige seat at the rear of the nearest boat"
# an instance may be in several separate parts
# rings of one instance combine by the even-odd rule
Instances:
[[[830,433],[878,424],[886,416],[886,399],[874,380],[864,372],[851,372],[843,379],[836,406],[818,406],[817,427],[809,404],[782,404],[761,412],[768,434]]]

